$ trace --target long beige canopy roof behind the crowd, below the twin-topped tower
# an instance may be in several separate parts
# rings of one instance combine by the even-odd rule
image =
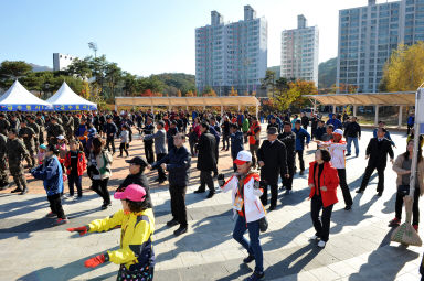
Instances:
[[[229,97],[116,97],[116,106],[257,106],[253,96]]]

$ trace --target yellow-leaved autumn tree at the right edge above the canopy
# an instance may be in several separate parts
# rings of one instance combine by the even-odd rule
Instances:
[[[416,90],[424,80],[424,42],[399,45],[384,65],[380,88],[386,91]]]

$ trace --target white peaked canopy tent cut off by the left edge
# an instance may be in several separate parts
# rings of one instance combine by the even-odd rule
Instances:
[[[52,105],[28,91],[18,80],[0,97],[0,111],[39,111]]]

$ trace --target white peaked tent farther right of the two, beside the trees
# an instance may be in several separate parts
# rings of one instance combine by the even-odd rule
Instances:
[[[61,88],[47,99],[53,105],[54,110],[97,110],[97,105],[82,98],[75,94],[66,82],[63,82]]]

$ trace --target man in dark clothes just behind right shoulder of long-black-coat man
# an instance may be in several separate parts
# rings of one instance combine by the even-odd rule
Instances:
[[[292,122],[284,122],[283,133],[278,134],[278,140],[286,145],[288,177],[282,173],[283,186],[286,188],[286,195],[292,193],[293,177],[295,175],[296,156],[296,133],[292,131]]]

